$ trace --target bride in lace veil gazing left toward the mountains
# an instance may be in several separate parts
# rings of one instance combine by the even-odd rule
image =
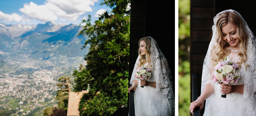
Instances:
[[[174,115],[174,94],[172,76],[168,62],[152,37],[139,40],[139,56],[135,63],[128,89],[134,93],[136,116],[170,116]],[[136,70],[145,66],[152,70],[148,80],[135,78]],[[141,86],[137,86],[138,83]]]

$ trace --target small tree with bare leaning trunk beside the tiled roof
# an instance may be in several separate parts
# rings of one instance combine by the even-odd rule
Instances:
[[[64,108],[65,112],[67,112],[68,100],[69,100],[69,92],[71,92],[69,84],[73,84],[74,82],[70,80],[71,77],[62,76],[58,79],[60,83],[57,84],[60,90],[57,91],[56,98],[58,101],[58,107]]]

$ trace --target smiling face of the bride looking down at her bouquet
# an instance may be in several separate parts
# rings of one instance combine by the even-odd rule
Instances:
[[[237,36],[237,26],[231,23],[228,23],[227,25],[223,26],[221,28],[222,35],[224,37],[224,40],[229,43],[230,46],[232,46],[233,49],[238,48],[238,44],[240,42],[240,39]]]

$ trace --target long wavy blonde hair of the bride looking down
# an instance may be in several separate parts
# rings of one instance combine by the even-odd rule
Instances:
[[[248,35],[245,32],[243,22],[236,14],[236,12],[224,12],[219,15],[217,22],[216,22],[216,38],[215,42],[216,44],[213,46],[212,51],[214,53],[214,57],[212,58],[212,65],[215,66],[218,61],[223,61],[226,56],[230,54],[230,51],[228,50],[229,43],[224,40],[224,37],[221,32],[221,28],[227,25],[228,23],[234,24],[237,26],[237,36],[238,39],[240,39],[239,49],[241,52],[238,54],[238,57],[241,59],[240,62],[237,63],[239,68],[241,68],[241,64],[245,65],[245,70],[247,70],[247,67],[250,65],[247,65],[245,61],[247,60],[247,42],[248,42]]]

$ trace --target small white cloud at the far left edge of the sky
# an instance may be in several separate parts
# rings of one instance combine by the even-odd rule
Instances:
[[[0,20],[4,20],[4,22],[20,22],[22,20],[22,16],[18,15],[17,13],[5,14],[0,11]]]

